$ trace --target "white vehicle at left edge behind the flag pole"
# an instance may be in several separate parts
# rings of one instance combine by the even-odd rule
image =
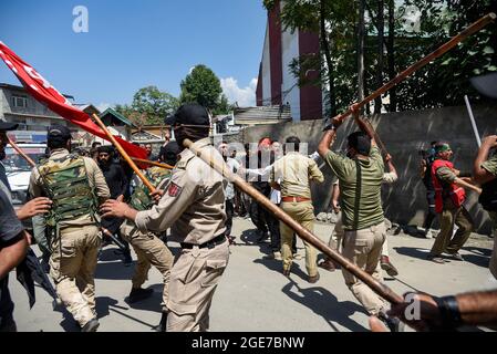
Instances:
[[[18,146],[35,163],[45,157],[45,144],[18,144]],[[7,178],[12,189],[12,202],[15,207],[23,205],[27,200],[32,168],[11,146],[6,147],[6,155],[2,163],[6,166]]]

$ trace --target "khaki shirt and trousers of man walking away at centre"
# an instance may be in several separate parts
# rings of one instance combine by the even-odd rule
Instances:
[[[281,209],[301,223],[309,231],[314,229],[314,207],[311,200],[310,181],[322,183],[323,174],[318,168],[315,162],[299,153],[288,153],[273,164],[271,181],[280,181],[281,186]],[[284,201],[286,197],[307,198],[308,201]],[[292,263],[292,241],[293,230],[286,223],[280,222],[281,253],[283,258],[283,270],[289,270]],[[313,246],[302,240],[306,248],[306,269],[309,277],[318,274],[318,257]]]

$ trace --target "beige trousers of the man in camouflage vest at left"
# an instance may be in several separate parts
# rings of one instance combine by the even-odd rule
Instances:
[[[101,243],[96,226],[65,228],[52,240],[50,275],[65,308],[84,326],[96,317],[94,274]]]

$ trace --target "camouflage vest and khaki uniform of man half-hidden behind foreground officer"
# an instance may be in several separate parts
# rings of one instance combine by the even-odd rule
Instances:
[[[161,167],[152,167],[145,173],[145,176],[156,188],[162,189],[168,183],[170,171]],[[154,206],[148,188],[142,183],[135,188],[131,197],[131,206],[138,211],[147,210]],[[123,223],[121,235],[133,246],[137,257],[135,274],[132,280],[133,289],[139,289],[148,279],[151,264],[157,268],[164,279],[163,302],[161,305],[163,311],[166,312],[169,274],[174,261],[173,254],[156,233],[151,231],[142,232],[132,221],[126,220]]]

